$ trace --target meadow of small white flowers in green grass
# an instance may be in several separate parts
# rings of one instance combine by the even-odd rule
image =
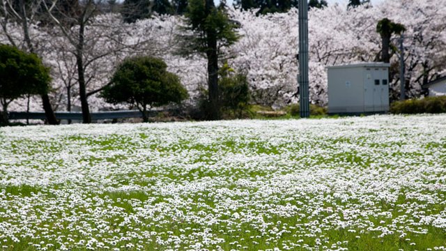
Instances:
[[[445,250],[446,116],[0,128],[0,250]]]

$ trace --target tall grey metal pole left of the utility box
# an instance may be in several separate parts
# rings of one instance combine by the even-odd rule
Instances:
[[[299,90],[300,117],[309,117],[308,86],[308,3],[299,1]]]

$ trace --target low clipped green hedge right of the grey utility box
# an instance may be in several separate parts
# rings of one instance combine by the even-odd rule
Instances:
[[[446,112],[446,96],[403,100],[390,105],[392,114],[438,114],[443,112]]]

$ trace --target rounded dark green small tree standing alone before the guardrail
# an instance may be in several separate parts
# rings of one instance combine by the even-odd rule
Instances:
[[[167,71],[162,59],[151,56],[125,59],[118,66],[111,83],[102,90],[102,98],[114,104],[127,102],[136,105],[144,122],[148,121],[147,109],[150,107],[179,103],[188,97],[178,76]]]

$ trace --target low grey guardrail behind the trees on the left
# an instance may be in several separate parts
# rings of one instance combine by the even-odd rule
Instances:
[[[148,116],[156,116],[158,112],[165,110],[148,111]],[[54,112],[56,119],[82,120],[82,112]],[[141,112],[137,110],[123,110],[111,112],[91,112],[92,120],[100,119],[125,119],[125,118],[141,118]],[[45,112],[9,112],[9,119],[46,119]]]

